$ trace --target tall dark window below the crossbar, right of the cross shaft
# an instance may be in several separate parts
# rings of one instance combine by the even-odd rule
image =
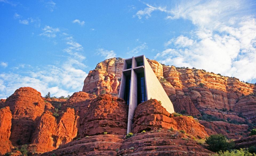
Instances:
[[[137,96],[138,96],[138,104],[147,101],[147,93],[146,93],[146,85],[145,85],[145,76],[144,76],[144,72],[143,73],[139,73],[137,74]]]

